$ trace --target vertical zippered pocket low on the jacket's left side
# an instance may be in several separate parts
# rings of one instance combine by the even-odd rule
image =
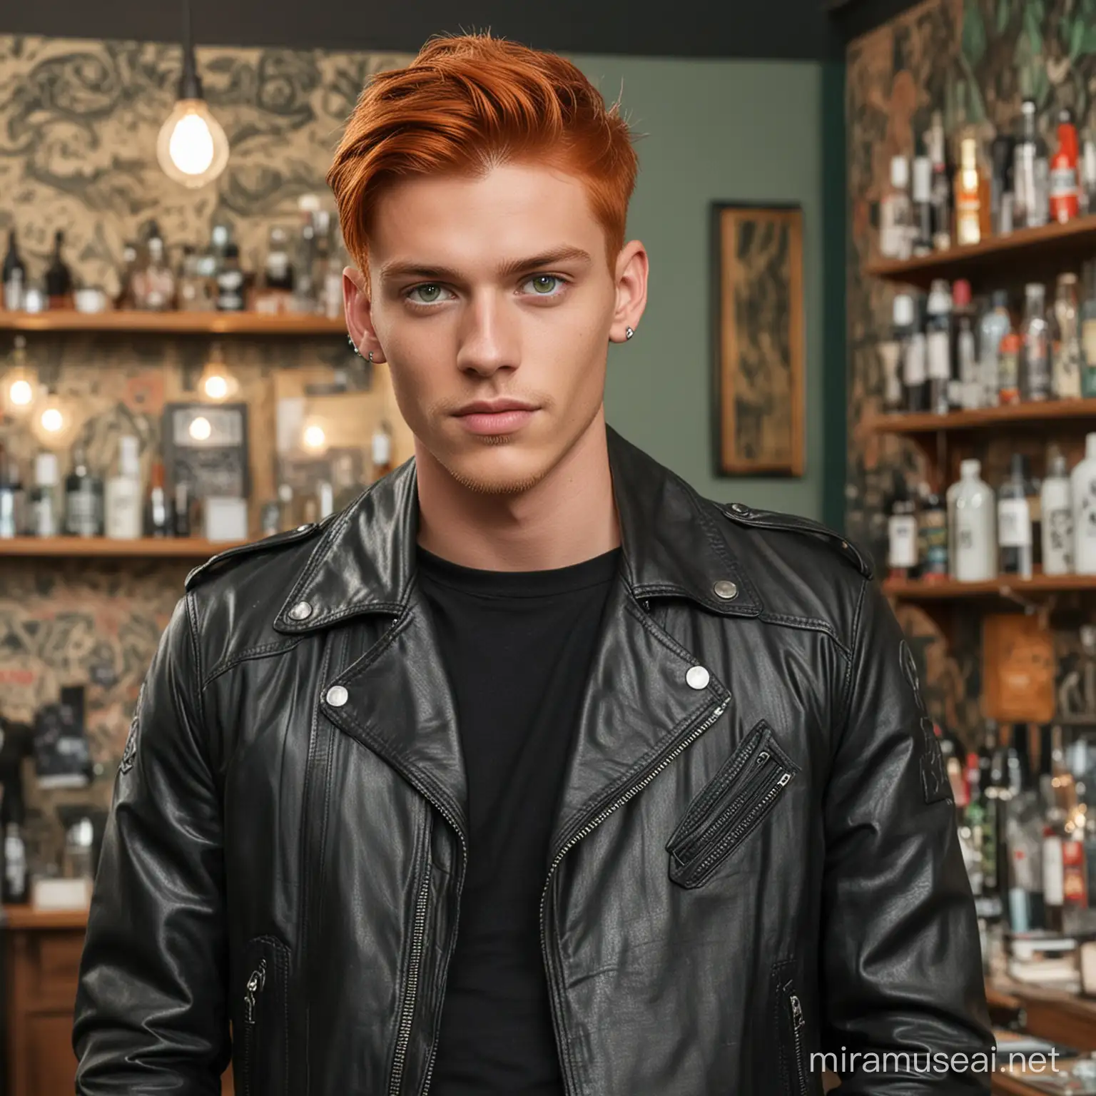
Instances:
[[[244,951],[237,1032],[239,1096],[285,1096],[289,1091],[289,952],[273,936],[259,936]],[[242,1047],[239,1043],[242,1042]]]

